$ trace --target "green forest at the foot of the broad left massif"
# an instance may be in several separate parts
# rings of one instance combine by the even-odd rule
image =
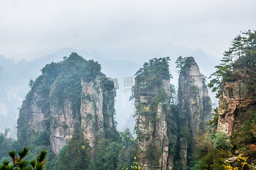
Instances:
[[[123,166],[130,168],[133,162],[133,149],[137,148],[136,140],[129,129],[116,134],[116,138],[102,139],[98,142],[95,149],[95,159],[91,158],[91,150],[88,143],[84,140],[82,134],[73,135],[58,155],[51,151],[47,144],[35,142],[30,145],[30,151],[26,154],[26,162],[35,160],[36,155],[40,155],[41,150],[46,150],[46,170],[121,170]],[[21,150],[19,141],[6,139],[3,133],[0,134],[0,165],[6,161],[11,162],[9,157],[10,150]]]

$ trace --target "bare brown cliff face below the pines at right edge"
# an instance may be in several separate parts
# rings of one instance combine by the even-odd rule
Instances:
[[[219,120],[217,131],[231,136],[240,129],[250,113],[256,110],[255,91],[250,90],[251,84],[235,81],[222,85],[219,100]]]

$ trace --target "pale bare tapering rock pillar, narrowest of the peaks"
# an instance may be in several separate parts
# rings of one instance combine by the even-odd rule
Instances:
[[[188,112],[188,123],[194,134],[210,120],[208,89],[193,57],[187,57],[179,75],[179,106]]]

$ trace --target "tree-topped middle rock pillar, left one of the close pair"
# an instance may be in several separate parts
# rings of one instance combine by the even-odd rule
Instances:
[[[162,71],[159,71],[160,65],[163,66]],[[145,63],[143,71],[139,71],[133,95],[140,159],[147,165],[145,170],[167,170],[169,139],[166,114],[170,100],[168,60],[167,63],[165,59],[150,60],[150,64]]]

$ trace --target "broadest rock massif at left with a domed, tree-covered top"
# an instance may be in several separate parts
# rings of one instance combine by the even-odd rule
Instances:
[[[20,109],[18,140],[29,144],[46,131],[53,152],[58,153],[72,135],[83,133],[93,156],[97,141],[114,128],[114,84],[100,69],[97,62],[76,53],[46,65]]]

